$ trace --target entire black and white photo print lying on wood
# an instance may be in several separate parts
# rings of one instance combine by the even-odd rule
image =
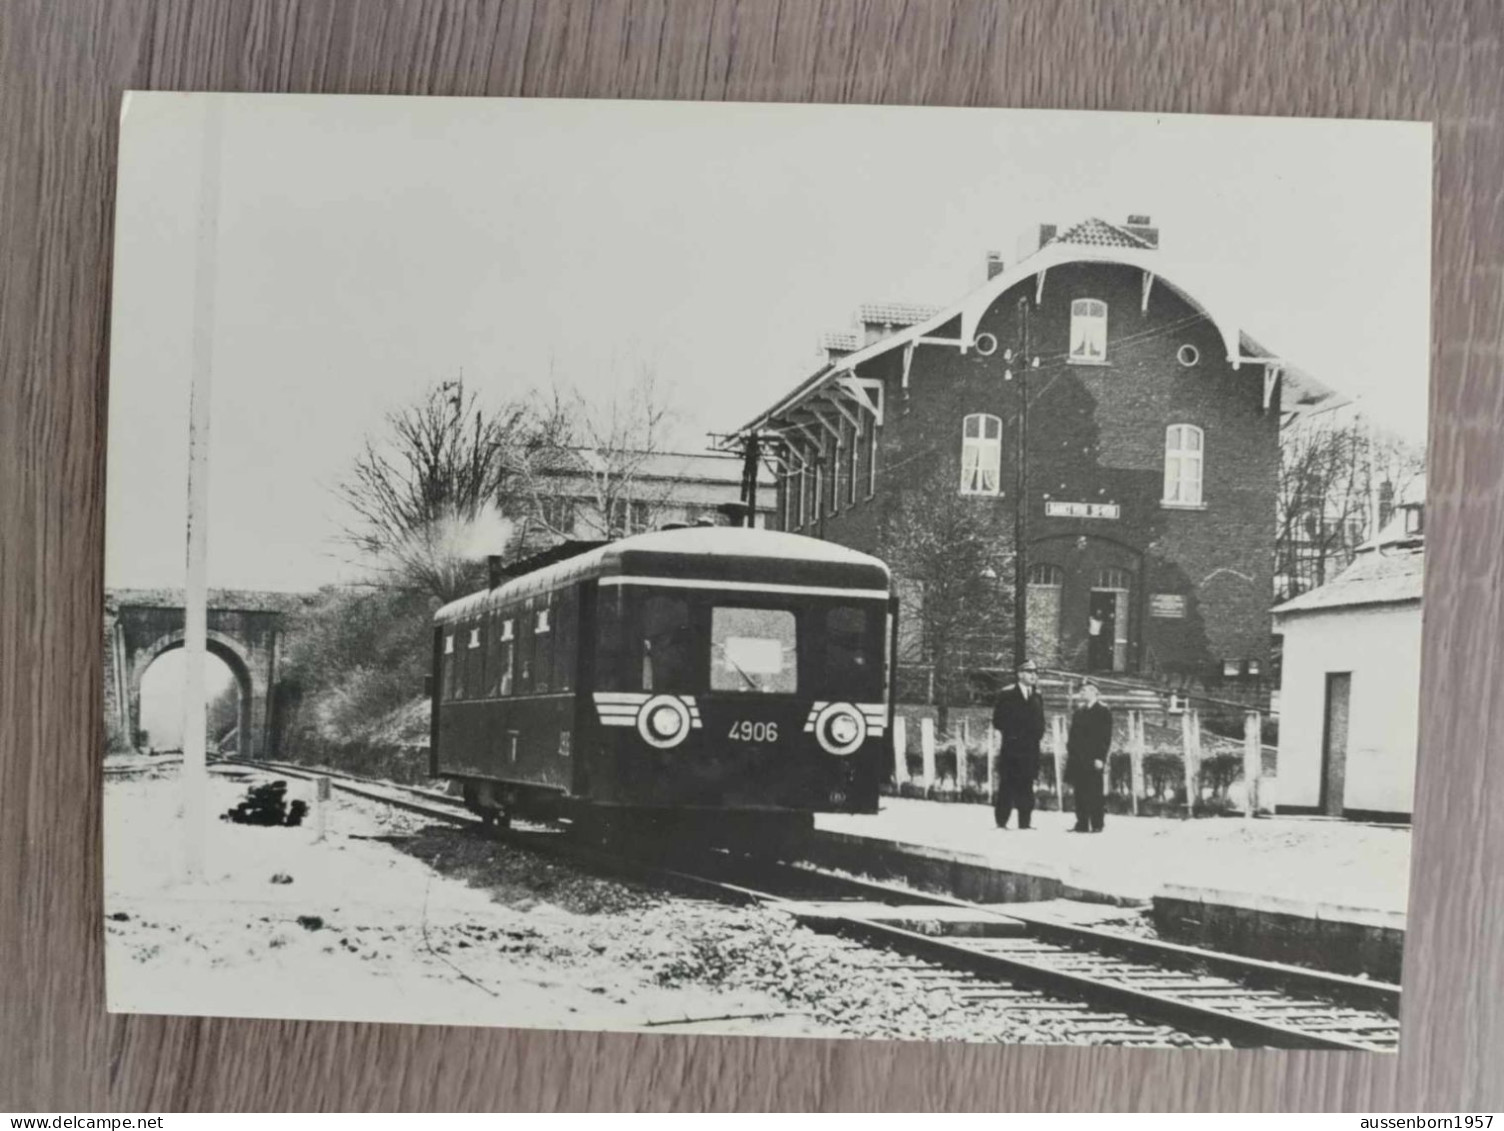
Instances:
[[[1399,1048],[1429,125],[119,129],[113,1012]]]

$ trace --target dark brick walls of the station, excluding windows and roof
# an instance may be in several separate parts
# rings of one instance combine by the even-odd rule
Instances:
[[[860,367],[886,388],[877,492],[866,499],[866,462],[857,465],[859,502],[842,490],[836,513],[803,532],[883,555],[883,531],[905,484],[945,469],[960,486],[961,423],[969,412],[1003,421],[1002,483],[987,505],[1014,507],[1018,379],[1008,381],[1003,350],[1018,343],[1018,299],[1030,304],[1030,350],[1041,365],[1029,388],[1029,561],[1059,566],[1060,660],[1084,666],[1090,588],[1104,569],[1133,576],[1128,597],[1130,671],[1220,677],[1224,659],[1256,660],[1268,671],[1274,569],[1274,498],[1278,406],[1263,409],[1259,365],[1233,370],[1221,335],[1194,305],[1155,281],[1142,310],[1134,268],[1074,263],[1051,268],[1042,301],[1035,283],[1003,293],[979,332],[996,335],[991,356],[949,346],[914,349],[907,393],[902,350]],[[1107,364],[1066,361],[1071,301],[1108,307]],[[955,337],[958,325],[935,331]],[[1191,346],[1194,365],[1176,353]],[[1166,427],[1203,432],[1203,507],[1161,502]],[[1059,502],[1114,504],[1117,519],[1047,517]],[[1184,599],[1184,615],[1151,615],[1151,594]],[[1163,608],[1163,606],[1161,606]],[[1033,635],[1033,633],[1032,633]]]

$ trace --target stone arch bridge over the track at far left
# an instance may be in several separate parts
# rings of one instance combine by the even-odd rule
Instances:
[[[305,599],[290,593],[209,590],[208,650],[224,660],[239,687],[239,753],[272,750],[277,665],[283,626]],[[107,590],[104,600],[105,725],[116,741],[141,744],[141,677],[164,653],[183,645],[180,590]]]

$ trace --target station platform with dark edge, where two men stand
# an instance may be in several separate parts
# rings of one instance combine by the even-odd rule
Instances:
[[[1331,818],[1175,820],[1072,814],[997,829],[985,805],[884,797],[817,818],[824,863],[987,902],[1083,899],[1152,908],[1161,937],[1399,979],[1408,827]]]

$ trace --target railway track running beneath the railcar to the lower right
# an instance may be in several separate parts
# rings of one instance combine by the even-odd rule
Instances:
[[[281,763],[233,763],[332,787],[459,826],[480,820],[436,790]],[[519,847],[699,896],[778,907],[796,920],[881,948],[874,963],[920,964],[926,981],[978,1005],[1069,1012],[1114,1044],[1163,1044],[1145,1023],[1257,1048],[1394,1051],[1400,988],[1304,967],[1065,923],[800,863],[680,851],[672,863],[581,845],[553,830],[492,830]]]

